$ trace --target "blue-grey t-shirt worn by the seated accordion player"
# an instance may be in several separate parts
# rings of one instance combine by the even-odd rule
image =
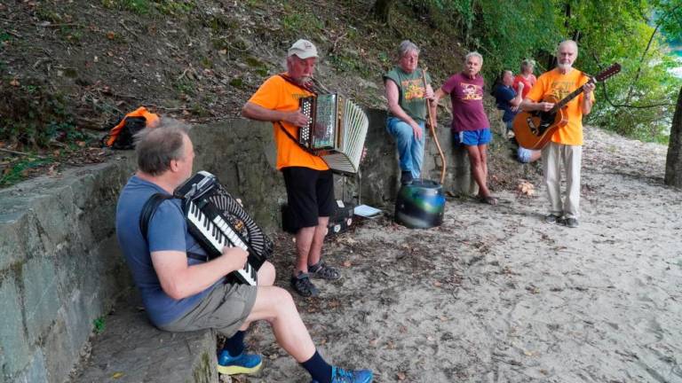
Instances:
[[[163,292],[152,264],[150,255],[152,252],[164,250],[194,254],[205,252],[187,231],[179,199],[165,200],[156,209],[148,225],[147,245],[147,240],[142,237],[139,230],[139,215],[147,199],[157,192],[168,194],[158,185],[142,180],[138,176],[132,176],[128,180],[116,206],[116,238],[123,249],[149,319],[156,325],[163,325],[171,323],[194,308],[215,285],[224,282],[224,278],[201,293],[181,300],[174,300]],[[187,258],[187,264],[195,263],[201,261]]]

